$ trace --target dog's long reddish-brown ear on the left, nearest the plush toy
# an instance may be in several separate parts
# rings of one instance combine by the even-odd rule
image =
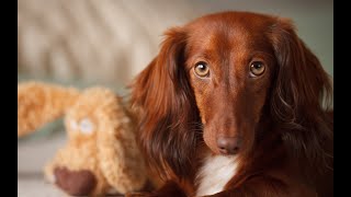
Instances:
[[[136,78],[132,104],[139,115],[139,143],[161,175],[190,175],[197,109],[184,68],[186,33],[171,28],[158,56]],[[193,130],[193,131],[192,131]],[[170,171],[171,170],[171,171]],[[166,173],[165,173],[166,172]]]

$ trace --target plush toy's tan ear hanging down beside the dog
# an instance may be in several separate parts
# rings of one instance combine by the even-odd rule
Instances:
[[[146,183],[146,167],[135,141],[135,128],[122,100],[106,91],[104,106],[97,112],[98,159],[109,184],[121,194],[136,192]]]

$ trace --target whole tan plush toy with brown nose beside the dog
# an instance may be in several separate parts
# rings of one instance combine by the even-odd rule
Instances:
[[[79,92],[37,82],[18,85],[19,137],[63,115],[68,142],[46,165],[46,178],[75,196],[145,189],[134,120],[121,97],[104,88]]]

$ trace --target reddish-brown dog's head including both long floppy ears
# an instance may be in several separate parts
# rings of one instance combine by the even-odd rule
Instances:
[[[151,162],[181,175],[202,140],[214,153],[245,153],[267,121],[301,129],[321,113],[328,76],[288,20],[225,12],[166,36],[132,97]]]

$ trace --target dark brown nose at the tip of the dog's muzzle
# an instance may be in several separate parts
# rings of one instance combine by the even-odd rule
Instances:
[[[236,154],[240,149],[241,139],[239,137],[218,137],[217,146],[223,154]]]

